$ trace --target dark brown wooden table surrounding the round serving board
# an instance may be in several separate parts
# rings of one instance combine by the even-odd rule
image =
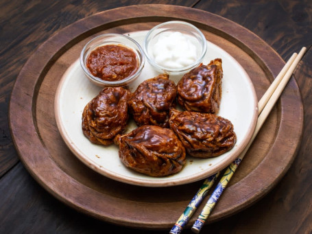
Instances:
[[[95,220],[56,200],[19,161],[10,136],[10,93],[32,52],[53,32],[97,12],[139,3],[171,1],[8,1],[0,3],[1,121],[0,233],[147,233]],[[294,72],[304,106],[304,128],[298,154],[284,178],[264,198],[229,218],[208,224],[202,233],[310,233],[312,5],[309,1],[175,1],[176,5],[224,16],[260,36],[287,60],[308,48]],[[195,191],[194,191],[195,192]],[[150,233],[168,233],[149,231]],[[185,230],[184,233],[191,233]]]

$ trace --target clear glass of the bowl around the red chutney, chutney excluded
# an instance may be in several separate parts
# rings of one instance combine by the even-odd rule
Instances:
[[[127,47],[129,49],[132,49],[134,53],[136,54],[136,58],[139,62],[139,67],[136,70],[136,72],[133,75],[128,76],[127,78],[124,78],[123,80],[115,80],[115,81],[108,81],[108,80],[102,80],[101,78],[98,78],[91,74],[91,72],[86,67],[86,60],[91,54],[91,51],[96,49],[97,47],[101,47],[104,45],[121,45],[124,47]],[[130,38],[129,36],[125,36],[123,34],[102,34],[100,36],[97,36],[90,40],[84,48],[81,51],[80,54],[80,65],[82,66],[82,69],[84,71],[84,74],[86,77],[93,82],[94,84],[98,86],[128,86],[131,82],[136,80],[136,78],[139,77],[141,74],[143,67],[145,63],[145,57],[144,52],[139,43],[137,43],[135,40]]]

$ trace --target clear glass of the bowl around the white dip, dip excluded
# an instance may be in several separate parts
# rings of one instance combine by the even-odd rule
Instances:
[[[161,35],[170,35],[174,32],[180,32],[184,36],[190,40],[196,48],[196,58],[195,61],[189,65],[186,65],[181,68],[169,68],[164,65],[159,65],[153,55],[152,48],[158,42],[158,39]],[[177,42],[174,42],[177,43]],[[149,62],[156,71],[160,73],[168,73],[171,75],[180,75],[181,73],[187,73],[191,69],[200,65],[207,50],[206,38],[200,30],[192,25],[191,23],[187,23],[184,21],[167,21],[165,23],[160,23],[149,30],[147,35],[145,36],[143,42],[143,51]]]

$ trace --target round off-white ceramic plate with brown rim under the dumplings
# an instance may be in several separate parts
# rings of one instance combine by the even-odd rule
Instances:
[[[142,45],[146,33],[145,31],[133,32],[130,36]],[[75,61],[64,73],[56,92],[56,122],[68,147],[78,159],[96,172],[132,185],[147,187],[182,185],[201,180],[224,169],[243,151],[252,136],[258,116],[258,104],[254,86],[241,65],[213,43],[208,42],[207,48],[204,64],[208,64],[215,58],[222,59],[224,78],[218,115],[229,119],[234,125],[237,143],[232,150],[211,159],[195,159],[187,156],[187,163],[181,172],[163,178],[145,176],[128,169],[119,160],[117,145],[95,145],[88,141],[82,133],[82,110],[99,93],[101,88],[92,84],[85,77],[79,60]],[[134,91],[143,80],[156,75],[158,73],[145,62],[143,72],[130,86],[130,90]],[[180,80],[180,77],[170,78],[175,82]],[[136,125],[134,121],[130,120],[127,132],[134,128]]]

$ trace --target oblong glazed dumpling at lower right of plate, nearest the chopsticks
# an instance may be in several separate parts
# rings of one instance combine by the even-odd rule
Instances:
[[[228,119],[209,113],[171,109],[169,125],[187,153],[194,157],[210,158],[224,154],[233,148],[237,139]]]

